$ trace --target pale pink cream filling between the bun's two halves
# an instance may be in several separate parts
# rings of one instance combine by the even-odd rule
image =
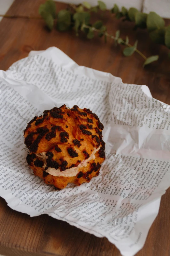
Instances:
[[[90,157],[88,159],[85,159],[83,160],[81,163],[78,164],[77,167],[72,167],[72,168],[69,168],[69,169],[66,169],[65,171],[60,171],[60,169],[55,169],[55,168],[51,168],[49,167],[46,172],[48,172],[49,174],[53,175],[53,176],[64,176],[64,177],[73,177],[73,176],[76,176],[78,173],[79,173],[79,168],[81,167],[86,167],[87,166],[87,163],[91,160],[94,160],[96,157],[95,157],[95,153],[97,151],[99,151],[101,145],[98,147],[98,148],[93,148],[93,152],[92,154],[90,155]],[[36,154],[36,156],[44,159],[44,165],[43,165],[43,168],[45,168],[47,166],[47,161],[46,159],[48,158],[48,156],[46,156],[46,153],[47,152],[42,152],[42,153],[39,153],[39,154]]]

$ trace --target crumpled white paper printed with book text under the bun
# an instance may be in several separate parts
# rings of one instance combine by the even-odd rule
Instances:
[[[107,239],[123,256],[146,240],[170,186],[170,106],[145,85],[78,66],[51,47],[0,71],[0,196],[22,213],[47,213]],[[32,175],[22,130],[46,109],[90,108],[104,124],[106,160],[80,187],[55,191]]]

